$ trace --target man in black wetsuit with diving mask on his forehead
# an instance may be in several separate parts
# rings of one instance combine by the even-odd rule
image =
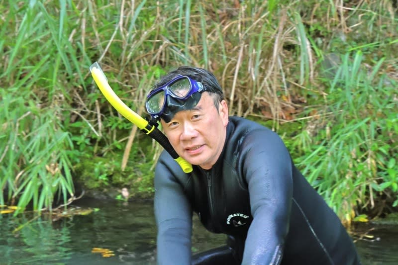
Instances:
[[[155,172],[159,264],[360,264],[336,214],[292,162],[281,138],[229,117],[214,75],[180,67],[149,92],[184,173],[167,153]],[[228,235],[227,246],[191,257],[192,214]]]

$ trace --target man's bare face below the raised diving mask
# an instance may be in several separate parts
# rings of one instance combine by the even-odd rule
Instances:
[[[193,109],[177,112],[169,123],[162,126],[177,154],[192,165],[210,169],[222,152],[228,124],[228,107],[225,100],[218,111],[213,98],[203,92]]]

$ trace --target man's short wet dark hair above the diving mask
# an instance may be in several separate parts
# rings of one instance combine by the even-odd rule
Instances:
[[[177,75],[186,76],[202,83],[205,91],[207,91],[212,96],[214,100],[214,105],[218,110],[218,103],[224,99],[224,93],[222,92],[222,88],[214,74],[203,68],[181,66],[163,76],[152,89],[164,86],[167,82],[173,80]]]

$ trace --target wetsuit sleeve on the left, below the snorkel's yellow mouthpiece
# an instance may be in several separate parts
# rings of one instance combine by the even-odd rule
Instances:
[[[160,265],[191,264],[192,210],[176,174],[184,173],[163,152],[155,170],[154,200]]]

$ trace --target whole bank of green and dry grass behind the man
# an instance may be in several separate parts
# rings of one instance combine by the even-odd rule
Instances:
[[[343,220],[388,212],[397,204],[396,12],[390,0],[8,1],[0,6],[0,204],[40,211],[58,196],[67,204],[77,165],[121,153],[109,168],[120,166],[124,183],[106,163],[86,169],[92,180],[148,190],[144,171],[161,150],[140,144],[145,136],[101,96],[88,70],[99,61],[141,113],[170,69],[214,72],[231,114],[285,134]]]

